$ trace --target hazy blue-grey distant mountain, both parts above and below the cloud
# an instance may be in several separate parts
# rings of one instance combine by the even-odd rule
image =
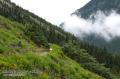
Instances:
[[[73,14],[84,19],[95,20],[95,15],[98,11],[103,12],[106,16],[111,11],[120,13],[120,0],[91,0],[82,8],[76,10]],[[109,52],[120,52],[120,37],[115,37],[111,41],[106,41],[103,37],[97,34],[86,35],[83,40],[99,47],[106,47]]]

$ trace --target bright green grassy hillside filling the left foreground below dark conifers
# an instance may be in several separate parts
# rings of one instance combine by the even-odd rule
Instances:
[[[52,51],[38,47],[24,29],[0,16],[0,79],[104,79],[65,56],[57,45],[51,45]],[[14,77],[5,77],[5,71]]]

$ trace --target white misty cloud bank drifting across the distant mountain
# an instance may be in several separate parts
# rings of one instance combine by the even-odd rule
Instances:
[[[107,40],[120,36],[120,15],[112,11],[108,16],[98,11],[94,14],[96,20],[85,20],[76,15],[72,15],[65,19],[63,29],[73,33],[76,36],[84,37],[95,33]]]

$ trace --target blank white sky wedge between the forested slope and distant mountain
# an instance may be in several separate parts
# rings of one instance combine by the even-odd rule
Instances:
[[[37,14],[47,21],[59,25],[76,9],[90,0],[11,0],[17,5]]]

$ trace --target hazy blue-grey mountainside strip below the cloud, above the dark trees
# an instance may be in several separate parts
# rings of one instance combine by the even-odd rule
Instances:
[[[98,34],[86,34],[86,36],[84,36],[82,40],[86,43],[89,43],[90,45],[105,47],[110,53],[120,52],[120,37],[114,37],[110,41],[108,41]]]

